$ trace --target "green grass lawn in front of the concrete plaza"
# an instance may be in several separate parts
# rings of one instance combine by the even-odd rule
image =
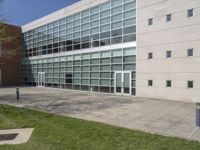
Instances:
[[[28,143],[0,150],[200,150],[195,141],[0,105],[0,129],[26,127],[35,128]]]

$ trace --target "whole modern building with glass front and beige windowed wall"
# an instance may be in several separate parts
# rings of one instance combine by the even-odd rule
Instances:
[[[25,85],[200,98],[199,0],[80,0],[22,32]]]

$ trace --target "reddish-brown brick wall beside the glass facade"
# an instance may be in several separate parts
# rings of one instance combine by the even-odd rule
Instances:
[[[0,87],[20,85],[21,28],[0,24]]]

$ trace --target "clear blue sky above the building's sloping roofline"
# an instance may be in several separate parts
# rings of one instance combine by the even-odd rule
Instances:
[[[77,1],[79,0],[4,0],[2,8],[7,22],[20,26]]]

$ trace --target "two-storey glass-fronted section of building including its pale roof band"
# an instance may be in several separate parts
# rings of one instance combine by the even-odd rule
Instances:
[[[135,0],[81,0],[22,31],[25,85],[135,95]]]

